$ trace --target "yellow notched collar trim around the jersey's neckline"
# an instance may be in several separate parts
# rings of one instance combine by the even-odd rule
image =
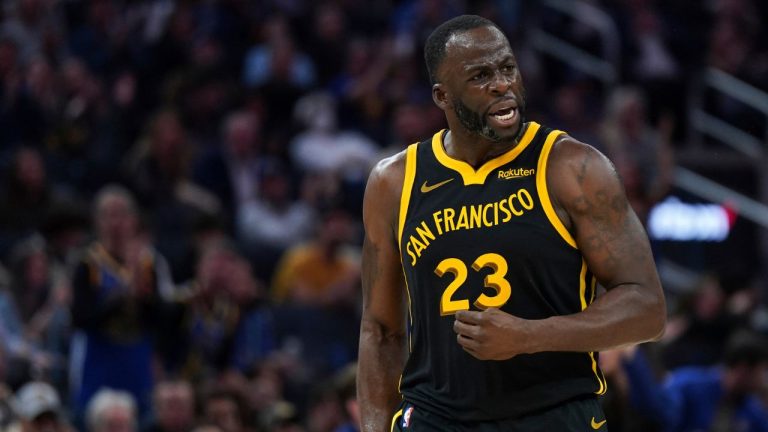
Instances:
[[[533,137],[536,136],[536,132],[538,132],[539,127],[540,125],[536,122],[528,123],[528,128],[525,130],[523,137],[515,147],[513,147],[510,151],[487,161],[477,170],[475,170],[472,165],[464,162],[463,160],[454,159],[448,156],[448,153],[445,152],[445,147],[443,146],[443,131],[445,129],[436,133],[432,137],[432,152],[434,152],[435,157],[437,158],[437,161],[440,162],[440,164],[461,174],[461,178],[464,180],[464,186],[471,184],[483,184],[485,183],[485,179],[488,178],[488,174],[490,174],[491,171],[499,168],[502,165],[512,162],[512,160],[514,160],[517,155],[522,153],[522,151],[528,147],[528,144],[531,143]]]

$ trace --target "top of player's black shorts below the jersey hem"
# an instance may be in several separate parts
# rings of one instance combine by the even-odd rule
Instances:
[[[457,422],[403,401],[392,417],[397,432],[607,432],[597,398],[578,399],[525,417],[479,423]]]

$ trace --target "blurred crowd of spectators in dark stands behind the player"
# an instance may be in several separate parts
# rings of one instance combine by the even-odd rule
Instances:
[[[362,195],[378,160],[444,127],[432,29],[498,23],[528,118],[605,152],[642,219],[672,188],[692,77],[768,89],[765,2],[584,3],[612,47],[592,9],[522,0],[1,2],[0,430],[358,430]],[[537,51],[537,29],[618,53],[617,79]],[[759,294],[718,274],[669,293],[663,341],[601,356],[611,430],[766,410]],[[670,408],[688,393],[717,416]]]

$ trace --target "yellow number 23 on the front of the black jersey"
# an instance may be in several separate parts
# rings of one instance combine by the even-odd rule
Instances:
[[[492,296],[484,293],[480,294],[477,300],[475,300],[475,306],[480,309],[501,307],[509,301],[509,297],[512,295],[512,286],[509,284],[509,281],[504,279],[509,268],[507,266],[507,260],[499,254],[483,254],[472,263],[472,269],[480,271],[483,267],[488,267],[493,270],[493,273],[485,277],[485,286],[492,288],[496,291],[496,294]],[[467,280],[467,265],[458,258],[446,258],[440,261],[440,264],[437,265],[435,274],[439,277],[443,277],[446,273],[453,274],[453,280],[448,284],[448,288],[443,291],[443,295],[440,299],[440,315],[452,315],[455,314],[456,311],[468,310],[468,299],[457,300],[453,298],[456,290],[458,290]]]

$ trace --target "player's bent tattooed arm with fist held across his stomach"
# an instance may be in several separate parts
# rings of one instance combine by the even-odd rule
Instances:
[[[480,359],[541,351],[601,351],[658,338],[664,294],[645,230],[610,161],[594,148],[560,138],[547,166],[556,213],[607,292],[585,310],[524,320],[499,310],[461,311],[458,342]]]

